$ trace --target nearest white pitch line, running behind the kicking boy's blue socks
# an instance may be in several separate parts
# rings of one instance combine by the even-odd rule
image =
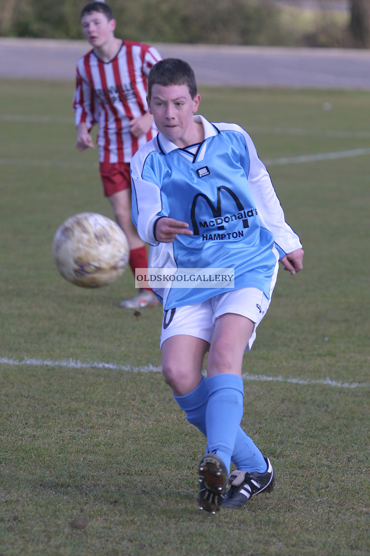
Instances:
[[[99,363],[99,361],[94,361],[93,363],[83,363],[82,361],[74,361],[73,359],[64,359],[62,361],[52,361],[50,359],[22,359],[19,361],[17,359],[9,359],[7,357],[0,358],[0,365],[11,365],[11,366],[22,366],[28,365],[33,367],[63,367],[67,369],[107,369],[115,371],[126,371],[128,373],[161,373],[161,367],[155,367],[153,365],[147,365],[144,367],[133,367],[131,365],[116,365],[115,363]],[[249,373],[242,374],[244,380],[251,381],[261,381],[261,382],[280,382],[280,383],[290,383],[298,385],[311,385],[319,384],[323,386],[332,386],[334,388],[370,388],[368,383],[342,383],[337,380],[332,380],[326,378],[325,380],[311,380],[311,379],[300,379],[300,378],[286,378],[284,376],[266,376],[266,375],[251,375]]]

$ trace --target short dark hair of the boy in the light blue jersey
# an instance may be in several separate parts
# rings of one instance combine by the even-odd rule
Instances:
[[[151,68],[148,77],[149,100],[153,85],[187,85],[191,98],[197,93],[194,71],[187,62],[179,58],[165,58]]]

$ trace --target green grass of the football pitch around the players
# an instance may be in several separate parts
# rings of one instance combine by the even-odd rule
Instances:
[[[248,508],[196,509],[204,440],[158,372],[160,307],[119,309],[130,271],[101,290],[65,282],[55,230],[82,211],[111,217],[97,152],[79,153],[73,83],[3,80],[0,110],[0,554],[351,555],[370,552],[369,155],[274,165],[370,147],[368,93],[211,89],[201,113],[250,130],[305,267],[280,272],[244,371],[242,424],[277,486]],[[331,110],[323,106],[330,103]],[[7,115],[5,117],[4,115]],[[53,117],[14,121],[9,115]],[[299,130],[299,131],[292,131]],[[1,359],[3,358],[3,359]],[[49,361],[12,365],[11,359]],[[336,383],[359,386],[323,385]],[[304,381],[312,381],[304,383]],[[316,382],[315,382],[316,381]],[[69,527],[75,515],[85,530]]]

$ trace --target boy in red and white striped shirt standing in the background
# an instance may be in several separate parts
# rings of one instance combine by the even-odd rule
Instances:
[[[81,13],[85,38],[93,47],[77,63],[73,99],[76,147],[93,148],[90,130],[97,124],[99,169],[104,195],[123,229],[130,247],[129,265],[146,268],[148,257],[143,240],[131,220],[130,161],[134,153],[156,134],[146,102],[150,68],[161,59],[148,44],[116,38],[116,21],[108,4],[90,2]],[[141,289],[121,307],[155,306],[150,289]]]

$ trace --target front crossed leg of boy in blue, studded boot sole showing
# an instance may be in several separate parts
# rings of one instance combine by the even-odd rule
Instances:
[[[225,498],[231,455],[243,415],[241,361],[254,322],[235,314],[217,319],[207,360],[207,454],[199,465],[199,508],[215,513]]]

